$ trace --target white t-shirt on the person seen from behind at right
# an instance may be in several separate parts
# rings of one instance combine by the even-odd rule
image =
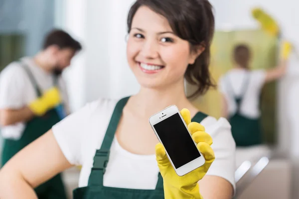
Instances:
[[[244,94],[243,85],[248,76],[250,79]],[[222,76],[219,80],[219,90],[227,100],[229,114],[234,114],[237,110],[234,97],[239,97],[243,92],[240,112],[249,118],[258,118],[261,114],[259,108],[260,95],[265,79],[265,70],[232,69]]]

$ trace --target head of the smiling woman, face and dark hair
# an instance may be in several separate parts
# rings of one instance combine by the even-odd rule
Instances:
[[[130,42],[127,46],[127,57],[134,73],[139,71],[135,70],[134,66],[138,66],[147,74],[161,72],[156,76],[157,79],[166,78],[164,74],[167,73],[170,81],[182,79],[183,74],[190,84],[198,86],[197,91],[190,96],[195,97],[214,86],[208,70],[210,42],[214,32],[213,13],[199,13],[194,16],[196,6],[192,6],[189,1],[182,4],[172,2],[171,5],[174,10],[167,9],[168,2],[163,1],[140,1],[132,6],[128,16]],[[208,1],[202,1],[200,6],[212,8]],[[179,9],[186,12],[182,13]],[[135,15],[139,17],[134,17]],[[148,57],[150,60],[155,60],[150,62],[141,60],[137,55],[139,51],[150,55],[151,57]],[[186,68],[177,67],[182,65]],[[181,71],[173,70],[171,67]],[[135,75],[139,83],[143,84],[139,76]]]

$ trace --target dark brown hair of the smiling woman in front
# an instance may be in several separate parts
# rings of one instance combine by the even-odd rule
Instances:
[[[205,50],[190,64],[185,72],[185,79],[191,85],[197,85],[197,91],[189,98],[204,94],[212,82],[209,71],[210,45],[214,34],[214,14],[208,0],[137,0],[128,15],[128,32],[131,31],[132,20],[141,6],[147,6],[154,12],[164,16],[172,31],[181,39],[187,40],[191,50],[199,46]]]

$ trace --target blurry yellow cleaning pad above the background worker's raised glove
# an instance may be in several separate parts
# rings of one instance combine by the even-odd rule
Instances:
[[[272,16],[267,14],[261,8],[252,9],[252,16],[255,18],[262,26],[262,29],[272,36],[279,35],[279,26]]]

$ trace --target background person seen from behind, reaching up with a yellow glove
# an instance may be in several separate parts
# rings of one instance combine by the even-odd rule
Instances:
[[[223,94],[222,116],[229,119],[237,146],[262,144],[260,95],[264,84],[286,74],[291,44],[283,43],[280,64],[269,70],[251,70],[251,51],[245,44],[234,48],[234,68],[219,81]]]

